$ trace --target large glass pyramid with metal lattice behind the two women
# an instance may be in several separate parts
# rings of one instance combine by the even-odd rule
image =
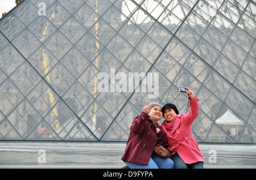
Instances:
[[[255,12],[252,0],[20,2],[0,19],[0,140],[126,142],[144,101],[187,113],[189,87],[198,142],[255,143]]]

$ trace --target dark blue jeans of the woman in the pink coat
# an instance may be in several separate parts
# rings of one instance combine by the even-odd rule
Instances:
[[[204,162],[196,162],[193,164],[185,164],[179,155],[172,156],[174,161],[174,169],[203,169]]]

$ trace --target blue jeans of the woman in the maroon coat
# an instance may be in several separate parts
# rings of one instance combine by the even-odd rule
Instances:
[[[173,169],[174,161],[168,157],[160,157],[155,152],[152,153],[147,165],[137,164],[134,162],[126,162],[130,169]]]

